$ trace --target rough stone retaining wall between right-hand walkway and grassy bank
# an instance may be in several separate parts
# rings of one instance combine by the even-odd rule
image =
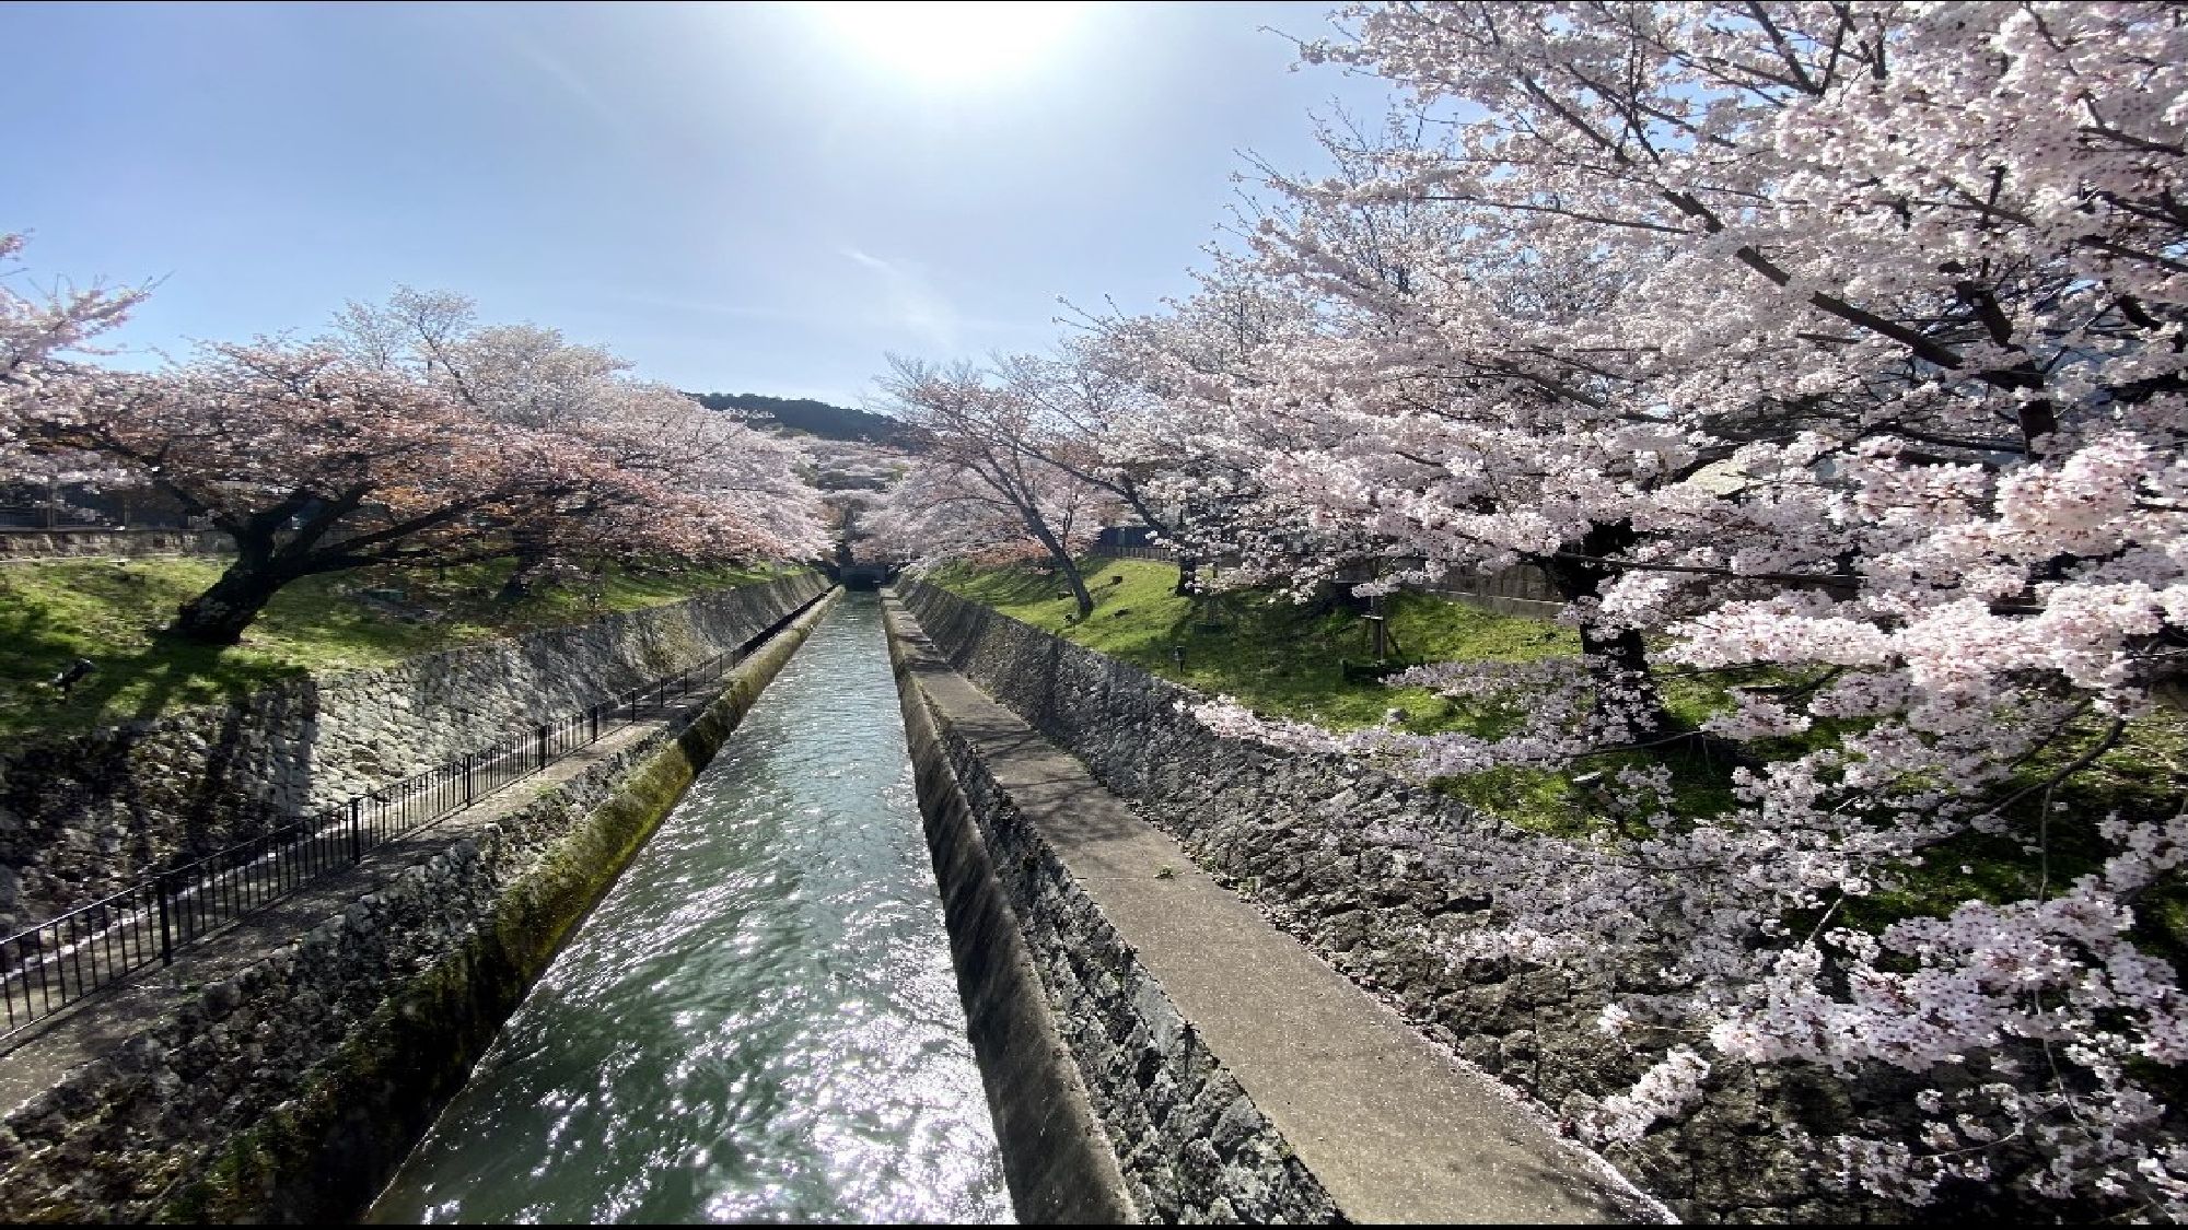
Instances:
[[[1339,972],[1398,1007],[1422,1033],[1571,1123],[1588,1099],[1623,1092],[1659,1053],[1595,1029],[1608,985],[1514,963],[1453,967],[1438,935],[1479,926],[1488,886],[1453,882],[1378,836],[1424,829],[1444,847],[1529,840],[1462,803],[1337,755],[1287,755],[1217,738],[1195,694],[926,582],[899,584],[950,663],[1070,749],[1092,775],[1192,858]],[[1634,952],[1619,991],[1661,965]],[[1904,1121],[1904,1075],[1827,1077],[1729,1068],[1707,1103],[1606,1158],[1683,1219],[1904,1221],[1915,1210],[1829,1188],[1799,1132]],[[1963,1210],[2000,1193],[1969,1193]],[[2026,1212],[2026,1210],[2024,1210]]]

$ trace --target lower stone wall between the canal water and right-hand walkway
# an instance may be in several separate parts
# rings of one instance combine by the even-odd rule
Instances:
[[[1002,945],[961,950],[956,961],[1020,1217],[1335,1221],[1330,1195],[996,784],[980,751],[921,696],[897,628],[891,654],[952,935]],[[982,915],[993,921],[974,926]],[[1033,1138],[1044,1127],[1052,1138]]]

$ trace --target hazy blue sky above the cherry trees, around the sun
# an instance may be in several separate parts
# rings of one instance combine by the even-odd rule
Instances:
[[[823,9],[4,4],[0,230],[37,280],[162,278],[133,363],[409,282],[680,387],[856,403],[884,352],[1186,291],[1238,151],[1315,169],[1308,112],[1381,112],[1260,31],[1326,4],[1085,4],[928,70]]]

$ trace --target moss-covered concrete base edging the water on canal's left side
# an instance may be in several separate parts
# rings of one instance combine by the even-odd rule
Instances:
[[[755,652],[705,713],[503,891],[462,948],[383,1000],[300,1096],[230,1142],[153,1221],[354,1219],[831,602]]]

